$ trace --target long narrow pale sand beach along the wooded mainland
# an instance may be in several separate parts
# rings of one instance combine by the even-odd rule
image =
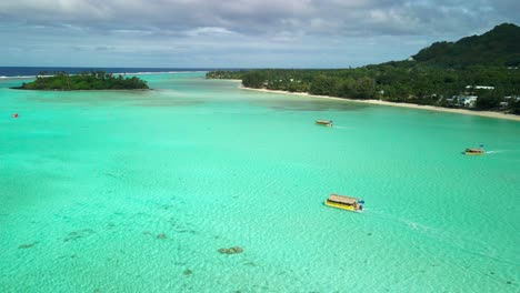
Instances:
[[[491,111],[471,111],[471,110],[466,110],[466,109],[442,108],[442,107],[437,107],[437,105],[421,105],[421,104],[412,104],[412,103],[396,103],[396,102],[388,102],[388,101],[381,101],[381,100],[354,100],[354,99],[337,98],[337,97],[330,97],[330,95],[309,94],[307,92],[287,92],[287,91],[268,90],[268,89],[252,89],[252,88],[246,88],[243,85],[240,85],[239,89],[248,90],[248,91],[267,92],[267,93],[283,93],[283,94],[291,94],[291,95],[303,95],[303,97],[309,97],[309,98],[327,99],[327,100],[336,100],[336,101],[348,101],[348,102],[364,103],[364,104],[376,104],[376,105],[400,107],[400,108],[419,109],[419,110],[430,110],[430,111],[438,111],[438,112],[447,112],[447,113],[456,113],[456,114],[464,114],[464,115],[476,115],[476,117],[486,117],[486,118],[503,119],[503,120],[519,121],[520,122],[520,115],[506,114],[506,113],[491,112]]]

